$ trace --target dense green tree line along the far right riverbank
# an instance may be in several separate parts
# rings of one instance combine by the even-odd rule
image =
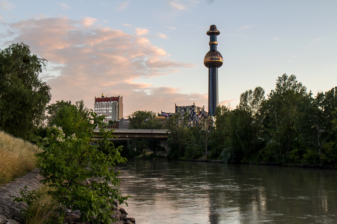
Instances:
[[[313,97],[295,75],[278,77],[265,97],[243,92],[235,109],[218,106],[214,120],[188,127],[187,116],[166,124],[173,159],[203,155],[226,163],[337,165],[337,87]],[[213,122],[210,126],[207,122]]]

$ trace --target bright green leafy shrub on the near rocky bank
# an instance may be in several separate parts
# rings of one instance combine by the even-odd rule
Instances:
[[[80,210],[83,220],[92,223],[113,222],[113,200],[126,203],[129,196],[122,196],[119,190],[119,172],[113,166],[126,159],[120,155],[121,147],[115,148],[110,141],[113,131],[103,126],[104,116],[90,112],[89,121],[78,137],[68,138],[62,128],[49,128],[52,144],[41,146],[42,153],[36,155],[43,183],[49,184],[49,194],[62,207]],[[97,140],[94,135],[99,136]],[[93,144],[95,143],[95,144]],[[104,152],[101,150],[104,149]],[[93,178],[94,180],[89,181]]]

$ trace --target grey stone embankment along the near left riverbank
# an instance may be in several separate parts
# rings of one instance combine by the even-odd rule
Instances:
[[[23,224],[24,218],[21,216],[20,210],[27,207],[26,203],[13,202],[13,197],[20,197],[20,191],[27,186],[27,190],[36,190],[40,185],[42,176],[38,170],[34,170],[21,178],[17,178],[10,183],[0,186],[0,224]],[[118,220],[112,224],[132,224],[135,223],[134,218],[127,218],[127,213],[123,208],[117,208],[117,202],[114,204],[114,219]],[[69,224],[89,224],[88,221],[80,219],[79,211],[66,211],[66,217],[63,223]]]

